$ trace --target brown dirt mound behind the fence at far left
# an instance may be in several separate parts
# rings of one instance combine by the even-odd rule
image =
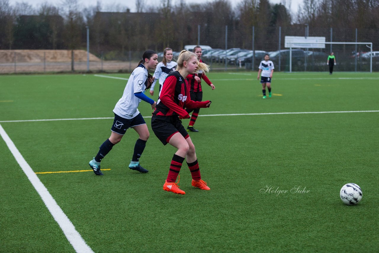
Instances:
[[[16,54],[17,63],[44,62],[68,62],[71,61],[71,50],[0,50],[0,63],[14,63]],[[74,50],[75,61],[87,61],[85,50]],[[89,61],[101,61],[100,58],[89,53]]]

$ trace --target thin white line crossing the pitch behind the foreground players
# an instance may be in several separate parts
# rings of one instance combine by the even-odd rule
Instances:
[[[233,113],[233,114],[208,114],[208,115],[199,115],[198,117],[209,117],[209,116],[247,116],[247,115],[281,115],[281,114],[314,114],[314,113],[362,113],[362,112],[379,112],[379,110],[370,110],[370,111],[332,111],[332,112]],[[151,116],[144,116],[144,118],[151,118]],[[105,118],[70,118],[70,119],[3,120],[3,121],[0,121],[0,123],[8,123],[8,122],[35,122],[35,121],[60,121],[60,120],[91,120],[91,119],[114,119],[114,117],[105,117]]]

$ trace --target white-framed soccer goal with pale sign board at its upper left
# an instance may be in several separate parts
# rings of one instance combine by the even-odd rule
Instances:
[[[330,52],[334,52],[336,58],[336,71],[373,72],[372,42],[326,42],[325,37],[294,38],[286,36],[285,42],[288,48],[286,69],[289,72],[326,71]],[[330,50],[326,45],[330,45]]]

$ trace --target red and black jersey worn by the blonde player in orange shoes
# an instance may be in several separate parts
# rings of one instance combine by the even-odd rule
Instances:
[[[157,106],[153,115],[180,116],[188,119],[189,114],[184,108],[205,108],[210,101],[192,101],[189,94],[188,81],[179,71],[171,72],[164,80]]]

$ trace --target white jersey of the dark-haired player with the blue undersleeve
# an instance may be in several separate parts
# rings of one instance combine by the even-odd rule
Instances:
[[[138,105],[141,99],[134,93],[144,92],[147,85],[147,69],[144,64],[139,64],[130,75],[125,86],[124,94],[115,105],[113,112],[125,119],[132,119],[138,115]]]

